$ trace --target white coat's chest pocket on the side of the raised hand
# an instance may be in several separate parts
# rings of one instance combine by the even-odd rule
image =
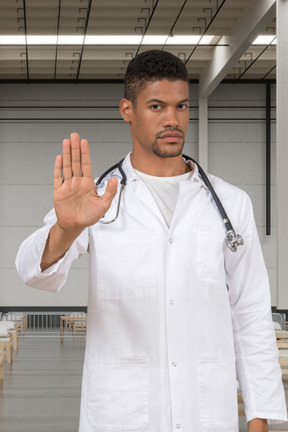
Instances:
[[[95,238],[97,296],[133,300],[156,296],[156,245],[153,233],[137,230]]]

